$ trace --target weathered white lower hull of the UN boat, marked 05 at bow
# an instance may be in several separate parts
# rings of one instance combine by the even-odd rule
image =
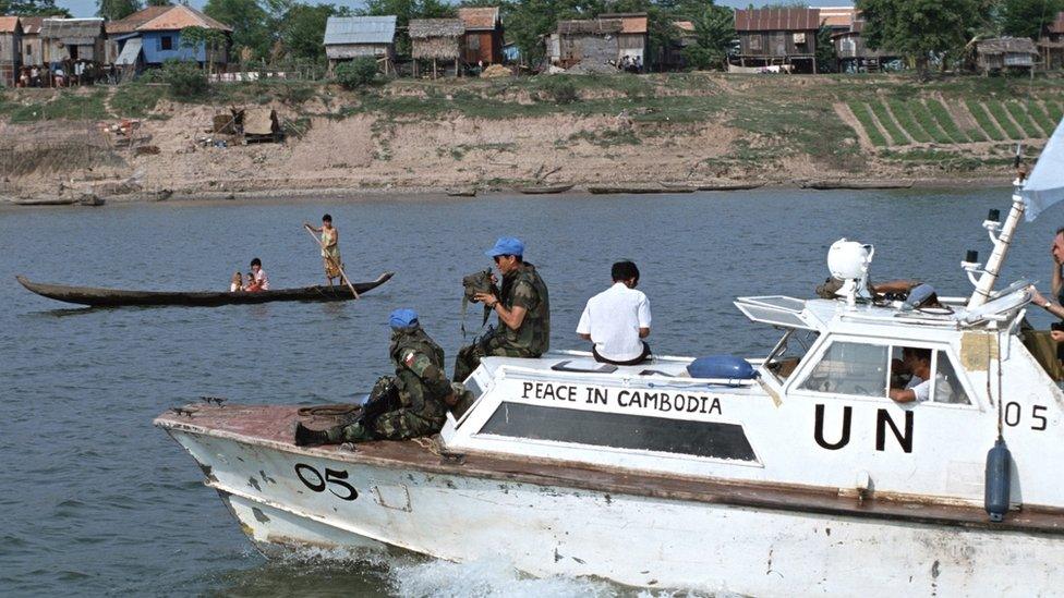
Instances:
[[[758,596],[1048,595],[1064,581],[1057,535],[397,467],[372,447],[300,449],[157,423],[265,546],[398,547],[457,562],[501,558],[535,576]]]

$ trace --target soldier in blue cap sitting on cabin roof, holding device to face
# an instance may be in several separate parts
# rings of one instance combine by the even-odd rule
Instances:
[[[547,285],[535,266],[524,261],[524,243],[512,236],[499,237],[484,254],[495,260],[503,284],[498,293],[477,293],[473,301],[495,312],[498,327],[489,328],[483,337],[459,350],[455,358],[456,382],[466,380],[480,365],[481,357],[539,357],[551,346]]]

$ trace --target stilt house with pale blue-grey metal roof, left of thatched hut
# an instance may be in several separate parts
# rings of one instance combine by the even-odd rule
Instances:
[[[330,16],[325,25],[325,56],[331,73],[340,62],[372,57],[385,74],[396,59],[395,16]]]

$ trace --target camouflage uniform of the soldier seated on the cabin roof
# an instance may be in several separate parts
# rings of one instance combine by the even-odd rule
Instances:
[[[472,344],[463,346],[455,358],[457,382],[464,381],[476,369],[481,357],[539,357],[551,347],[551,300],[535,266],[521,264],[505,274],[498,296],[507,309],[517,306],[527,309],[524,321],[517,330],[499,322],[498,328],[489,329]]]

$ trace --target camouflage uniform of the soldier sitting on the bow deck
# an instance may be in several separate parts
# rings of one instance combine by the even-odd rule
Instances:
[[[444,399],[451,394],[450,381],[444,374],[444,350],[421,327],[415,327],[392,331],[389,353],[396,375],[382,376],[370,398],[390,399],[398,408],[380,414],[368,429],[361,423],[331,428],[328,442],[406,440],[436,434],[444,427]]]

